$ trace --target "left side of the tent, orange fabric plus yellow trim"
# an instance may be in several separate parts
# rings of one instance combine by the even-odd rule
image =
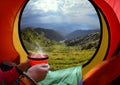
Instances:
[[[18,34],[19,15],[26,2],[27,0],[2,0],[0,2],[0,62],[25,60],[27,56]]]

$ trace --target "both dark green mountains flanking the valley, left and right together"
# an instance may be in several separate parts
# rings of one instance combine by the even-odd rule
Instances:
[[[22,42],[27,50],[36,50],[36,47],[39,48],[39,45],[43,47],[50,47],[56,44],[60,45],[60,40],[63,40],[62,44],[65,44],[65,46],[74,46],[76,49],[97,48],[100,40],[100,31],[83,35],[72,40],[65,40],[58,32],[51,29],[28,27],[21,30]],[[50,50],[50,48],[47,50]]]

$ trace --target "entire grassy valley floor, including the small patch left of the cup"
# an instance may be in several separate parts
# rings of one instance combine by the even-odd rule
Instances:
[[[80,50],[77,46],[68,47],[64,44],[43,47],[43,50],[49,56],[48,62],[52,71],[83,65],[95,53],[95,49]],[[29,50],[29,52],[36,53],[33,50]]]

